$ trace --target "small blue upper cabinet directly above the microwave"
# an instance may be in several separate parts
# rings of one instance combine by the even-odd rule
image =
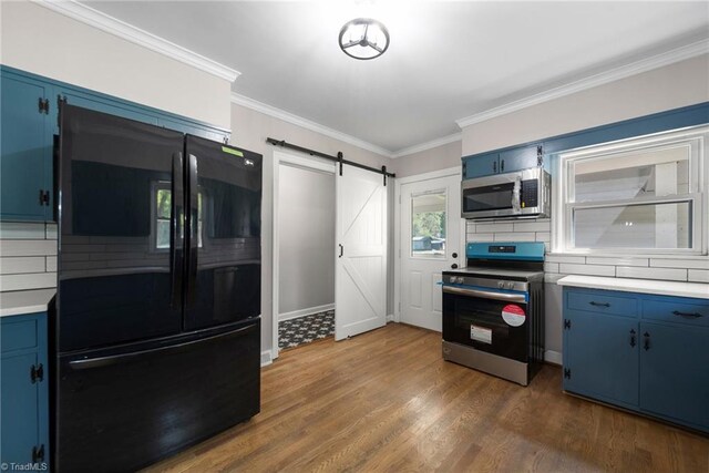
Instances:
[[[523,145],[463,157],[463,178],[512,173],[542,165],[542,144]]]

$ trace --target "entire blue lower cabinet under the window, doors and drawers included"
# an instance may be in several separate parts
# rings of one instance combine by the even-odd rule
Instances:
[[[709,432],[709,299],[564,288],[564,390]]]

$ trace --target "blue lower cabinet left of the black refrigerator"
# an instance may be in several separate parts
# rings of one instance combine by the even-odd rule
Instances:
[[[48,471],[47,315],[2,317],[0,336],[0,461],[8,471]]]

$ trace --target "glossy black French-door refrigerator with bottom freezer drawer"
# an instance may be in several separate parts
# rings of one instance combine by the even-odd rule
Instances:
[[[261,156],[60,122],[52,467],[135,471],[259,411]]]

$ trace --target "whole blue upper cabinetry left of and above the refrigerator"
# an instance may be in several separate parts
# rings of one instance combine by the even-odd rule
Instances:
[[[60,102],[226,143],[227,130],[0,66],[0,220],[51,222]]]

